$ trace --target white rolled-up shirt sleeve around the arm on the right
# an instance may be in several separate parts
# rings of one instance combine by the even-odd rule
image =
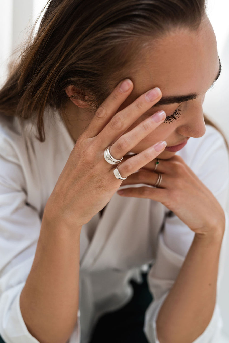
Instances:
[[[209,135],[206,140],[208,144],[203,144],[205,148],[202,145],[198,149],[195,165],[193,162],[189,167],[195,172],[203,184],[212,191],[224,209],[226,225],[219,257],[217,296],[214,313],[204,332],[193,343],[219,342],[222,318],[217,298],[221,277],[224,272],[226,245],[229,239],[229,220],[226,211],[229,186],[228,151],[218,131],[217,134]],[[209,145],[209,143],[211,144]],[[165,217],[163,230],[158,235],[156,261],[147,275],[149,290],[153,294],[154,299],[145,312],[143,330],[150,343],[160,343],[156,327],[158,312],[176,281],[194,235],[194,232],[176,215],[173,214],[173,216]]]

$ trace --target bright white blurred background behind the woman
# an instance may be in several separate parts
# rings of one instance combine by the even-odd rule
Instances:
[[[37,19],[46,0],[0,0],[0,86],[7,76],[7,59],[11,52],[26,37],[29,25]],[[229,0],[208,0],[208,17],[215,30],[222,72],[214,89],[207,92],[204,112],[225,133],[229,141]],[[39,24],[39,22],[38,22]],[[217,163],[217,161],[212,161]],[[229,204],[228,204],[229,213]],[[229,237],[228,256],[219,303],[224,321],[224,337],[229,343]]]

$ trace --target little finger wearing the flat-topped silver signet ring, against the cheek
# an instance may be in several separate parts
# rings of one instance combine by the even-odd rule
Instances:
[[[128,158],[128,160],[118,166],[120,175],[122,177],[128,177],[152,161],[152,159],[156,158],[165,149],[167,144],[164,142],[165,141],[158,142],[153,146],[148,147],[141,153]]]

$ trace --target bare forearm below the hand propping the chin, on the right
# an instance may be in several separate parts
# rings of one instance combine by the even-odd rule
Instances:
[[[180,273],[157,317],[160,343],[192,343],[212,318],[224,228],[195,235]]]

